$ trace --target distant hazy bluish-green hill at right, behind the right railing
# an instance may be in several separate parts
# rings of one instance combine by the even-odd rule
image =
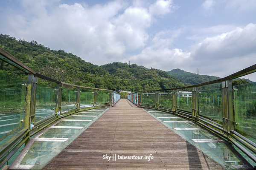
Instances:
[[[172,71],[168,71],[168,74],[191,85],[196,85],[202,82],[208,82],[211,80],[220,79],[220,77],[199,75],[195,73],[186,72],[186,71],[180,70],[179,68],[173,69]]]

